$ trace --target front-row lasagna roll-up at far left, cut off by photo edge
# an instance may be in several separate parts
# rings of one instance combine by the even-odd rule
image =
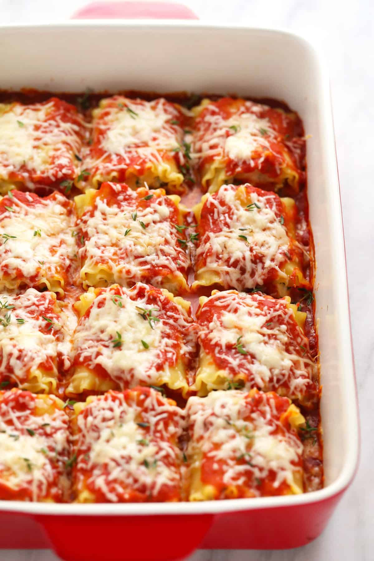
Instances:
[[[0,499],[68,502],[68,416],[55,396],[0,392]]]

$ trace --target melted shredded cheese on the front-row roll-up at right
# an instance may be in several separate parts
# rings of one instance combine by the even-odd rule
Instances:
[[[248,477],[265,480],[270,471],[276,473],[275,488],[284,481],[294,485],[302,444],[296,434],[281,427],[274,398],[262,396],[254,412],[248,394],[234,390],[188,399],[189,450],[192,454],[201,450],[206,457],[223,462],[225,485],[245,485]],[[242,458],[246,463],[239,461]]]

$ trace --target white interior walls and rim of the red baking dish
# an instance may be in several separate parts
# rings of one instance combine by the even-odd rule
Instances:
[[[315,493],[200,504],[54,505],[1,502],[46,513],[223,512],[313,502],[352,479],[357,402],[330,91],[324,62],[300,36],[184,21],[85,21],[0,27],[3,89],[138,89],[236,93],[285,100],[304,122],[308,197],[316,246],[316,318],[323,385],[325,488]]]

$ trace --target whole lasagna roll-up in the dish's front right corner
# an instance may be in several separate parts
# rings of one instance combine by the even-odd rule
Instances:
[[[285,397],[253,389],[190,397],[190,500],[303,492],[304,417]]]

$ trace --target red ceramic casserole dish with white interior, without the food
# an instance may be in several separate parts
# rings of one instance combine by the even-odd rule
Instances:
[[[284,99],[301,116],[311,135],[308,198],[317,264],[325,470],[324,489],[255,500],[2,501],[0,547],[52,547],[66,560],[114,561],[181,559],[198,547],[280,549],[307,544],[324,530],[358,461],[343,225],[329,81],[321,55],[301,36],[285,31],[197,21],[12,25],[0,27],[0,36],[7,52],[1,62],[5,89],[234,92]],[[128,61],[129,53],[133,64],[124,72],[123,61]],[[161,64],[168,70],[162,76]]]

